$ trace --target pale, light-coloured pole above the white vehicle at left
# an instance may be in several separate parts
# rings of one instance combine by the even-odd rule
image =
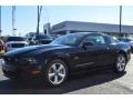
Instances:
[[[16,6],[12,6],[12,36],[16,36]]]

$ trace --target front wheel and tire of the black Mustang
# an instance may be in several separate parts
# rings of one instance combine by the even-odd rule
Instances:
[[[43,72],[48,87],[59,87],[68,78],[68,67],[62,60],[52,60]]]

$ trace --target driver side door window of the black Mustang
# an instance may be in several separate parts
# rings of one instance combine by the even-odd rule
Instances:
[[[105,39],[103,36],[100,34],[89,34],[83,41],[84,42],[90,42],[93,46],[100,46],[100,44],[105,44]]]

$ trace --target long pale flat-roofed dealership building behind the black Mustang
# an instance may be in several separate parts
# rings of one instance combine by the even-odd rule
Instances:
[[[60,36],[73,32],[102,32],[111,36],[120,36],[120,26],[110,23],[94,23],[80,21],[63,21],[52,27],[52,34]],[[133,34],[133,26],[121,27],[122,36]]]

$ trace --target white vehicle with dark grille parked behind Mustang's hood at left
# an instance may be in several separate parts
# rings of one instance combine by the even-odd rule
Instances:
[[[25,38],[22,38],[22,37],[8,37],[6,40],[6,51],[23,48],[27,46],[28,46],[28,42]]]

